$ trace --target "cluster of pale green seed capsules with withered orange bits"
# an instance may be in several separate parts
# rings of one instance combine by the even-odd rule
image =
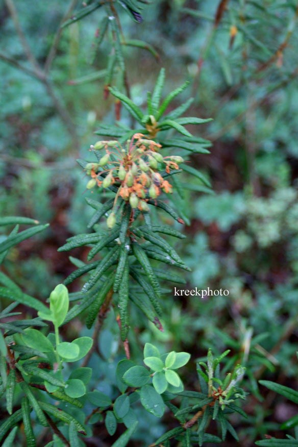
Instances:
[[[171,169],[179,169],[178,165],[184,160],[180,156],[163,157],[159,152],[161,145],[143,137],[143,134],[134,134],[127,141],[126,148],[116,140],[97,141],[90,146],[91,150],[104,150],[105,154],[97,163],[86,165],[85,169],[91,176],[87,188],[95,185],[108,188],[115,184],[118,187],[115,204],[120,196],[129,201],[132,208],[143,212],[149,210],[149,199],[155,199],[162,191],[171,193],[171,184],[160,172],[169,174]]]

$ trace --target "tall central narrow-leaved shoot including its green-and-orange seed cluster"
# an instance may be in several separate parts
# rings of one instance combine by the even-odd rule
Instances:
[[[98,253],[102,255],[101,259],[95,258],[90,264],[82,264],[80,261],[79,268],[65,280],[64,284],[67,285],[91,272],[82,288],[83,293],[78,294],[81,302],[70,309],[65,322],[88,310],[86,324],[90,328],[102,306],[108,308],[114,300],[119,311],[122,341],[127,340],[129,332],[129,301],[158,329],[163,330],[160,321],[160,298],[163,291],[159,279],[185,283],[181,275],[163,272],[156,267],[156,263],[152,265],[150,259],[189,270],[172,245],[158,233],[180,239],[185,236],[176,229],[163,225],[159,216],[154,215],[156,213],[148,213],[150,206],[164,211],[183,224],[187,217],[181,216],[181,209],[178,213],[162,200],[161,193],[168,194],[168,197],[173,195],[172,202],[179,206],[185,185],[180,184],[177,177],[183,171],[210,186],[200,171],[188,166],[184,156],[187,152],[209,153],[206,147],[210,143],[193,137],[184,128],[184,125],[201,124],[209,119],[179,118],[190,106],[191,100],[162,118],[170,102],[188,85],[185,83],[171,92],[159,105],[164,78],[165,72],[162,69],[153,94],[148,94],[148,114],[143,114],[126,95],[110,89],[143,127],[132,130],[119,123],[112,127],[102,126],[97,132],[113,139],[100,140],[91,146],[97,161],[78,160],[91,177],[87,188],[97,185],[96,192],[101,193],[99,201],[86,199],[95,210],[88,223],[88,228],[92,228],[94,233],[73,236],[59,249],[66,251],[91,245],[88,261]],[[179,132],[182,138],[168,139],[168,131]],[[173,153],[175,148],[179,148],[178,154]],[[171,182],[167,180],[168,177]],[[103,191],[106,193],[102,194]],[[104,216],[107,217],[108,231],[102,231],[98,226]]]

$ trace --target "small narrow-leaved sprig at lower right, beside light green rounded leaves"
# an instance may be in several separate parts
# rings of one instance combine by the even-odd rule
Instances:
[[[226,439],[228,431],[238,440],[238,436],[227,416],[230,413],[239,413],[243,417],[247,417],[245,412],[235,404],[238,399],[245,399],[245,392],[239,388],[245,368],[237,365],[232,373],[227,374],[225,378],[221,378],[220,363],[229,352],[226,351],[214,359],[211,350],[209,350],[207,363],[197,363],[197,375],[201,391],[182,390],[177,393],[176,397],[182,397],[180,408],[169,402],[173,399],[172,395],[167,396],[168,400],[165,404],[179,421],[180,427],[163,434],[151,444],[151,447],[169,442],[170,439],[176,439],[181,441],[182,445],[189,446],[197,444],[202,446],[205,442],[219,443]],[[185,356],[186,353],[181,354]],[[179,356],[179,354],[177,355]],[[167,355],[167,361],[171,356],[172,353]],[[173,365],[175,366],[175,363]],[[206,433],[211,420],[216,420],[221,431],[221,438]]]

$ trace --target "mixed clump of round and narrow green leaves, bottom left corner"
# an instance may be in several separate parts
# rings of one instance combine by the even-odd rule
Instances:
[[[36,302],[38,303],[37,300]],[[6,395],[6,408],[10,416],[0,426],[0,441],[22,420],[27,445],[36,446],[32,410],[35,411],[36,422],[52,428],[66,445],[69,445],[68,440],[60,432],[56,421],[69,426],[69,439],[75,438],[79,442],[78,432],[86,434],[85,426],[72,416],[71,408],[83,407],[79,398],[87,392],[86,385],[91,379],[92,370],[79,367],[65,378],[63,368],[67,362],[81,360],[91,349],[92,339],[80,337],[72,342],[60,341],[59,327],[63,324],[69,306],[68,291],[64,285],[59,284],[53,290],[49,303],[49,310],[42,303],[35,306],[42,308],[38,312],[39,318],[2,325],[5,339],[2,336],[0,387],[2,394]],[[17,315],[18,313],[11,313],[14,306],[12,304],[3,311],[3,316],[7,318]],[[45,336],[39,330],[30,328],[47,326],[42,319],[53,322],[55,335],[49,333]],[[70,411],[53,405],[53,398],[61,403],[66,402]],[[16,400],[21,401],[21,408],[17,410]]]

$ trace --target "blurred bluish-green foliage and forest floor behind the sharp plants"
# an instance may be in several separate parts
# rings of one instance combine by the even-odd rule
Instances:
[[[98,2],[87,3],[85,8],[92,9]],[[284,445],[296,445],[298,441],[285,440],[284,433],[288,429],[286,433],[294,435],[296,419],[286,421],[295,416],[296,407],[278,397],[280,388],[268,384],[274,381],[295,388],[297,377],[296,2],[132,3],[145,7],[141,12],[144,20],[134,22],[129,11],[115,4],[124,36],[119,34],[119,39],[144,41],[152,45],[148,47],[151,52],[144,45],[121,45],[122,57],[112,34],[107,34],[96,48],[94,35],[98,27],[99,33],[105,27],[103,20],[107,14],[104,8],[98,8],[62,28],[52,62],[47,55],[61,20],[65,22],[71,15],[69,12],[65,16],[68,6],[55,0],[51,8],[44,2],[29,5],[22,0],[15,5],[11,0],[1,5],[1,215],[34,217],[51,224],[32,239],[14,246],[7,254],[3,272],[21,290],[45,302],[56,285],[74,270],[73,263],[80,268],[80,262],[87,261],[86,246],[72,250],[70,259],[66,253],[57,252],[67,238],[86,232],[93,214],[84,197],[94,200],[96,192],[86,191],[89,178],[75,160],[89,157],[87,148],[97,138],[101,139],[94,137],[93,132],[98,129],[103,132],[103,126],[114,125],[115,118],[121,117],[126,128],[135,129],[130,114],[125,107],[120,108],[112,94],[107,95],[105,85],[129,93],[144,110],[146,92],[153,91],[161,66],[166,69],[163,97],[188,79],[189,87],[173,100],[168,111],[193,96],[186,114],[212,117],[213,121],[198,130],[193,125],[187,126],[195,136],[210,140],[212,147],[210,155],[190,157],[191,166],[200,169],[205,183],[184,173],[185,195],[180,200],[175,196],[181,216],[190,223],[182,230],[187,238],[175,244],[179,256],[191,268],[190,272],[183,271],[181,276],[187,283],[181,288],[209,286],[228,289],[230,294],[228,299],[225,296],[190,299],[173,296],[171,283],[162,282],[162,290],[168,290],[162,300],[164,332],[131,307],[134,328],[129,334],[131,355],[136,365],[143,367],[145,343],[154,344],[161,353],[187,351],[192,361],[181,370],[180,377],[186,390],[200,393],[204,392],[204,385],[198,381],[194,362],[206,361],[209,348],[215,358],[230,349],[222,359],[221,379],[236,364],[246,367],[241,388],[247,395],[241,408],[248,417],[237,413],[230,417],[232,429],[225,444],[235,445],[234,428],[235,436],[244,446],[254,445],[266,434],[283,438]],[[77,2],[71,2],[71,7],[76,11],[82,9]],[[14,9],[38,64],[44,66],[47,60],[46,81],[40,73],[37,76],[36,72],[30,72],[36,71],[36,67],[28,61],[26,48],[20,43],[12,20]],[[109,27],[115,23],[111,21]],[[111,73],[104,70],[112,59],[113,46],[116,62]],[[14,67],[13,61],[24,69]],[[125,64],[129,88],[122,84],[121,64]],[[175,154],[182,155],[178,150]],[[162,219],[162,225],[172,225],[167,218]],[[101,230],[106,229],[104,221],[100,226]],[[13,225],[2,228],[3,241],[12,229]],[[68,290],[75,294],[83,284],[84,281],[76,280],[68,285]],[[2,301],[3,309],[7,308],[10,301],[5,297]],[[36,317],[28,306],[18,305],[16,310],[25,318]],[[93,369],[89,392],[96,389],[113,402],[119,392],[116,366],[125,357],[116,314],[113,307],[107,313],[92,356],[87,358],[88,366]],[[5,324],[16,318],[3,317]],[[62,326],[64,341],[92,337],[93,331],[85,326],[85,317]],[[65,366],[67,372],[71,368],[71,363]],[[199,377],[202,378],[200,374]],[[267,382],[258,384],[260,379]],[[16,389],[11,404],[14,411],[21,409],[22,395]],[[297,403],[293,393],[282,391],[284,397]],[[192,414],[187,406],[194,406],[193,402],[183,401],[183,408],[178,411],[186,408],[184,414],[187,411]],[[26,405],[23,401],[22,407]],[[90,429],[87,440],[82,437],[78,442],[94,445],[96,440],[112,445],[125,426],[119,423],[113,432],[115,416],[109,407],[103,406],[105,410],[108,408],[104,411],[106,425],[103,412],[90,416],[93,407],[91,401],[84,407],[86,413],[77,416],[82,422],[88,417],[89,429],[93,429],[93,435]],[[179,422],[172,417],[173,409],[161,420],[141,406],[137,409],[139,425],[129,445],[151,444],[168,430],[179,428]],[[2,412],[5,420],[8,413],[4,399]],[[50,432],[43,431],[34,413],[32,418],[40,445],[50,442]],[[133,417],[126,425],[133,426]],[[61,430],[67,438],[75,432],[72,425],[71,433],[66,426]],[[222,427],[218,430],[214,422],[208,427],[210,435],[220,436]],[[178,440],[170,445],[188,442],[179,440],[180,433],[176,436]],[[22,429],[15,439],[19,445],[26,445]],[[200,438],[192,441],[201,442]],[[54,445],[63,445],[61,442],[54,434]],[[207,438],[204,445],[215,442],[215,438]],[[268,439],[259,441],[259,445],[280,445],[274,442]]]

